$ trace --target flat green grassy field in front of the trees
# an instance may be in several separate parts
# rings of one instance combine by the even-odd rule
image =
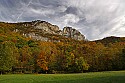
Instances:
[[[125,71],[0,75],[0,83],[125,83]]]

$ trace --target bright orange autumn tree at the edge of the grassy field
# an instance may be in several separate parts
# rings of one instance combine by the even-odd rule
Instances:
[[[56,47],[52,42],[40,42],[40,54],[37,56],[37,65],[43,71],[50,71],[54,69]]]

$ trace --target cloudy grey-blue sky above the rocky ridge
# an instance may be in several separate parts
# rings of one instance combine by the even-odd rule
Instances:
[[[0,21],[43,20],[88,40],[125,37],[125,0],[0,0]]]

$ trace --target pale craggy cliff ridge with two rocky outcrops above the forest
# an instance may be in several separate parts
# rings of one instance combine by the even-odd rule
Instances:
[[[84,35],[72,27],[64,27],[63,30],[60,30],[58,26],[52,25],[46,21],[36,20],[18,23],[18,25],[19,27],[15,29],[16,32],[20,32],[24,36],[35,40],[50,41],[52,36],[56,36],[56,38],[57,36],[62,36],[75,40],[85,40]]]

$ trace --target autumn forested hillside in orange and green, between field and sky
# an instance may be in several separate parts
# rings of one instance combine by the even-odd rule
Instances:
[[[71,33],[71,28],[68,35],[60,35],[55,29],[54,32],[43,33],[45,31],[40,28],[32,28],[27,23],[0,23],[1,74],[78,73],[125,69],[124,37],[86,41],[78,31],[72,29],[74,32]],[[35,35],[31,35],[31,32]]]

